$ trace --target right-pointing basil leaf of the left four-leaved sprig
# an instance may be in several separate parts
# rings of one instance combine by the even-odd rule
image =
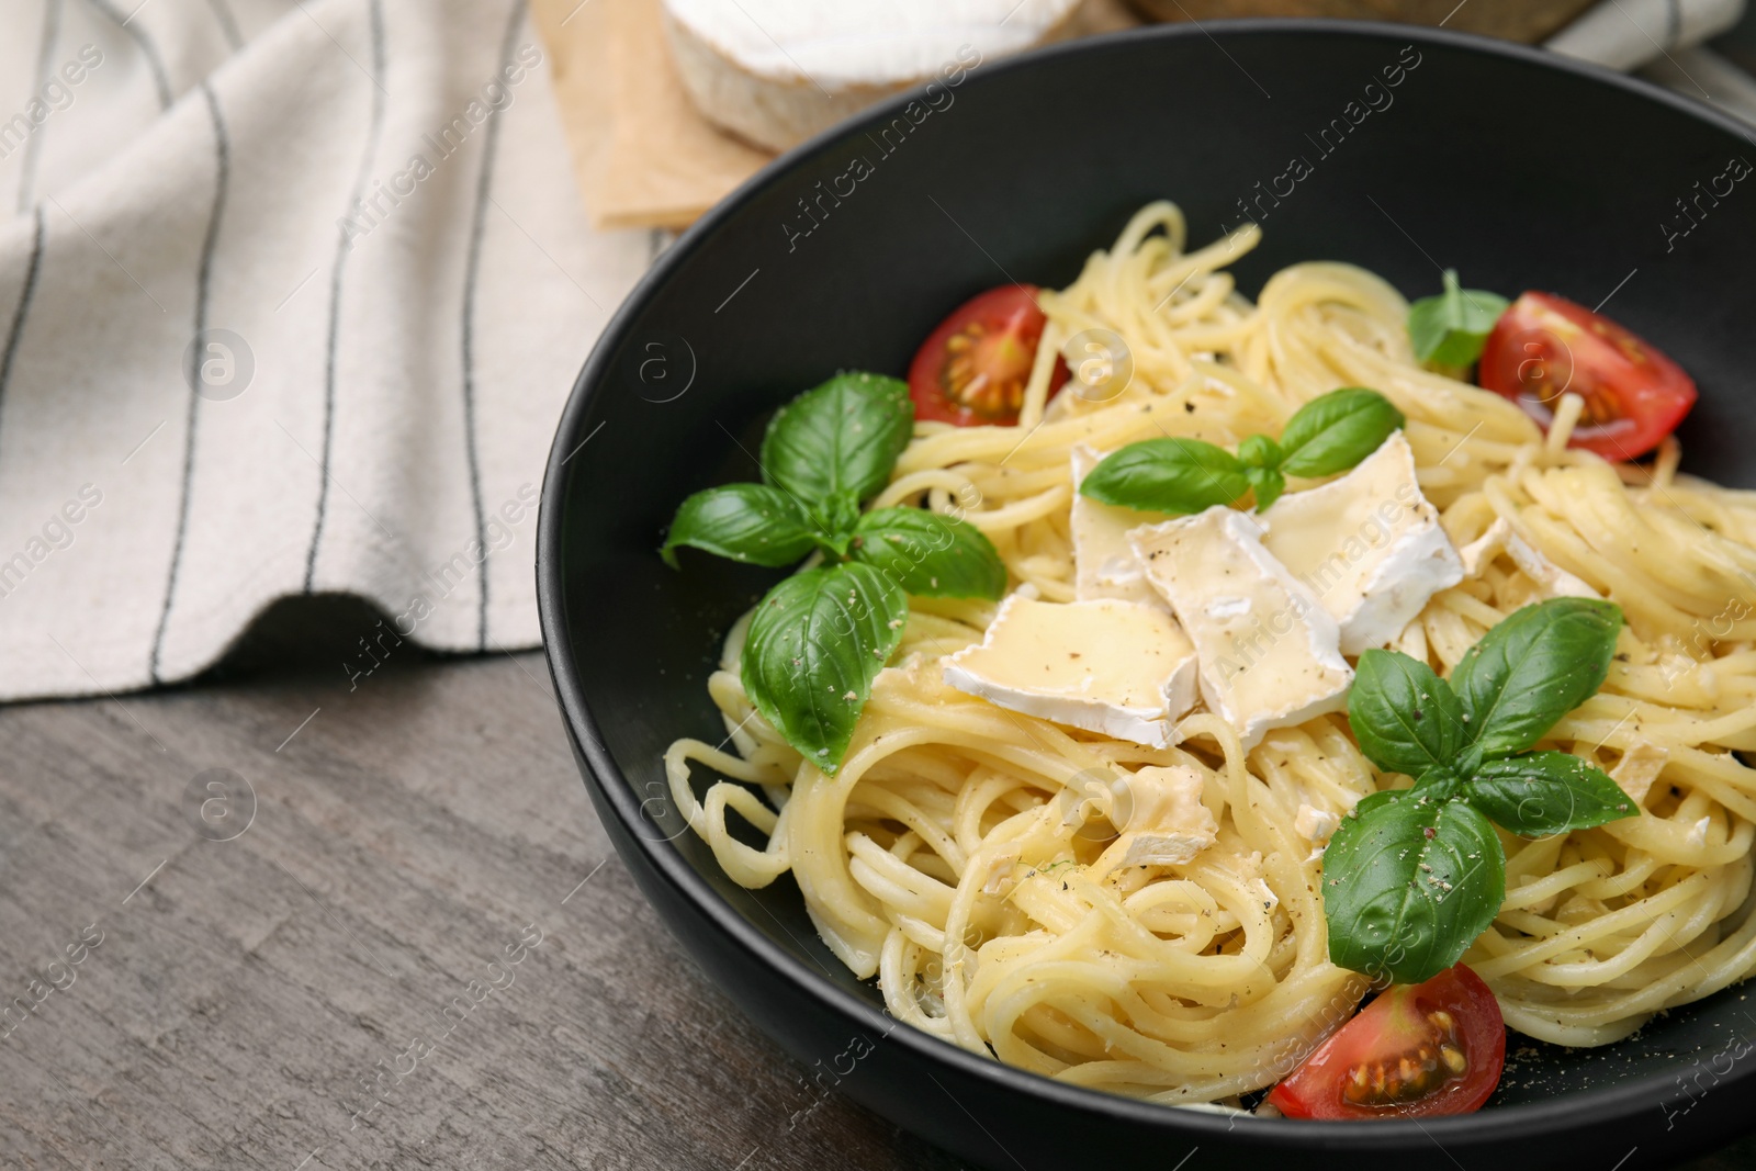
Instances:
[[[1006,592],[1006,564],[994,542],[964,520],[915,507],[878,509],[853,527],[853,560],[920,597],[985,597]]]

